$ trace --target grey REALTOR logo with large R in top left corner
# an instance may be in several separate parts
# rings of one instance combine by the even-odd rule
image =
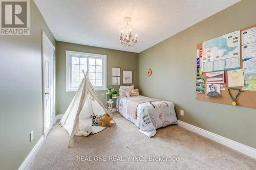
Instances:
[[[29,35],[29,0],[0,0],[0,35]]]

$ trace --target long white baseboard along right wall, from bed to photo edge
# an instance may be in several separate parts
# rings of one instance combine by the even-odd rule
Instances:
[[[256,159],[256,149],[178,120],[178,125]]]

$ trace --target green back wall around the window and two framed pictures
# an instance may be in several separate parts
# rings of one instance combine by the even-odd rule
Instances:
[[[65,113],[75,95],[75,92],[66,92],[66,50],[106,55],[107,86],[115,87],[116,90],[119,89],[119,85],[112,85],[112,67],[118,67],[121,68],[121,85],[122,71],[130,70],[133,71],[133,85],[138,87],[138,53],[56,41],[56,114]],[[106,91],[96,91],[104,105],[106,104],[105,95],[101,94],[105,92]],[[115,107],[115,105],[113,105],[113,107]]]

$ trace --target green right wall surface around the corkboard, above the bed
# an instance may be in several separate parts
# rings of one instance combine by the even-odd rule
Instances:
[[[195,92],[197,43],[255,24],[255,7],[241,1],[139,53],[140,92],[172,101],[179,120],[256,148],[256,109],[197,101]]]

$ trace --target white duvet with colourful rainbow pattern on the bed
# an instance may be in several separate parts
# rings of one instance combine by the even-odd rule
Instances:
[[[119,98],[119,113],[127,120],[134,123],[140,132],[148,137],[156,135],[156,129],[168,125],[177,124],[174,104],[167,101],[155,101],[139,104],[137,107],[137,118],[127,114],[127,103],[130,100],[146,98],[142,95],[131,98]]]

